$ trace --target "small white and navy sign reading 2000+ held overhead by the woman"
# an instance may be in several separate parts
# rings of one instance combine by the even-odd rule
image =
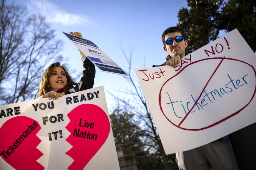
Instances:
[[[107,73],[114,73],[120,75],[127,75],[106,53],[104,53],[92,41],[86,39],[79,39],[74,35],[66,32],[65,34],[69,40],[82,51],[101,71]]]

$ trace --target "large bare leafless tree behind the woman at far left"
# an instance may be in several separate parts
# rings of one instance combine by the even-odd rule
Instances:
[[[63,42],[40,15],[26,17],[26,8],[0,4],[1,105],[34,99],[47,63],[61,59]]]

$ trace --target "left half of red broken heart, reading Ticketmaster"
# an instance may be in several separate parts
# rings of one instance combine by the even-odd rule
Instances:
[[[43,155],[36,148],[41,142],[36,136],[40,129],[37,121],[26,116],[7,120],[0,128],[1,157],[15,169],[44,169],[36,162]]]

